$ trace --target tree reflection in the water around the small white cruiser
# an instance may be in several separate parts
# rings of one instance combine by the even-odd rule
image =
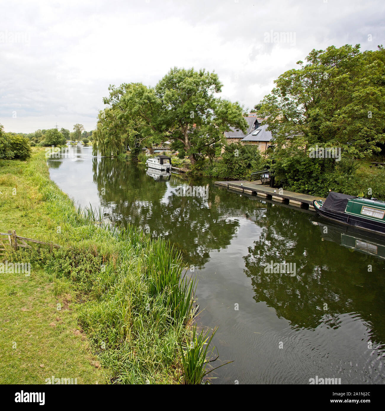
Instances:
[[[178,196],[176,189],[183,183],[177,176],[170,177],[163,185],[131,163],[93,159],[93,178],[112,222],[135,224],[149,229],[154,237],[168,237],[189,265],[203,267],[210,251],[229,245],[238,222],[226,221],[225,193],[209,190],[207,200]],[[190,180],[189,185],[203,183]]]

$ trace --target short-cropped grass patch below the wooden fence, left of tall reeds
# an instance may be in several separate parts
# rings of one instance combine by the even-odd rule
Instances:
[[[54,296],[44,271],[2,274],[0,307],[1,384],[44,384],[51,376],[77,378],[78,384],[105,381],[71,296]]]

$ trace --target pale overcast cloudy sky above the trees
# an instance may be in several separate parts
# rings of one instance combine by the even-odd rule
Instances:
[[[91,130],[109,84],[155,85],[174,66],[217,72],[251,108],[313,48],[375,50],[384,25],[383,0],[1,0],[0,124]]]

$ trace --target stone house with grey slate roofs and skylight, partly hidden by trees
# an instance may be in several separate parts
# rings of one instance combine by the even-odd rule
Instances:
[[[257,113],[249,113],[245,116],[248,128],[247,132],[243,133],[241,130],[235,130],[231,127],[231,131],[225,132],[226,144],[237,143],[258,145],[259,151],[265,151],[271,144],[271,132],[266,131],[268,125],[261,125],[264,118],[257,118]]]

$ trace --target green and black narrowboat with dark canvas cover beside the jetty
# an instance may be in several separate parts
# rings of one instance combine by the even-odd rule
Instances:
[[[329,220],[385,235],[385,201],[330,192],[325,201],[311,205]]]

